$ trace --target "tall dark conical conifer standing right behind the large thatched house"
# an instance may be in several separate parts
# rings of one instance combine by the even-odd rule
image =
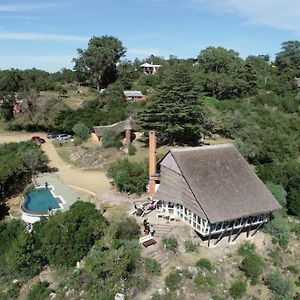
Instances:
[[[156,130],[162,144],[195,144],[201,137],[202,101],[185,68],[173,67],[140,115],[144,130]]]

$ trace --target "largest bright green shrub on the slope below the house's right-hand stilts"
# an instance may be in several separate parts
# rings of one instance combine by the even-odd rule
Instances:
[[[258,282],[259,277],[264,268],[263,259],[255,253],[248,254],[242,261],[241,270],[245,275],[251,279],[251,284],[254,285]]]

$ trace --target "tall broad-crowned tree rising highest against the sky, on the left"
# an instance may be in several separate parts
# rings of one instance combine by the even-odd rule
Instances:
[[[87,49],[78,49],[75,71],[100,91],[116,77],[116,63],[125,54],[122,42],[113,36],[92,37]]]

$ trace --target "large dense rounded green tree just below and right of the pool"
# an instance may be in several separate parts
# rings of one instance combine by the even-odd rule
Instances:
[[[34,230],[50,264],[72,267],[83,258],[106,230],[106,220],[95,205],[78,201]]]

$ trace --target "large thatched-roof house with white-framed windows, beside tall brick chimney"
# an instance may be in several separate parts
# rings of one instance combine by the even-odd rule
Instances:
[[[280,208],[231,144],[173,149],[158,169],[153,198],[175,207],[174,213],[202,236],[260,225]]]

